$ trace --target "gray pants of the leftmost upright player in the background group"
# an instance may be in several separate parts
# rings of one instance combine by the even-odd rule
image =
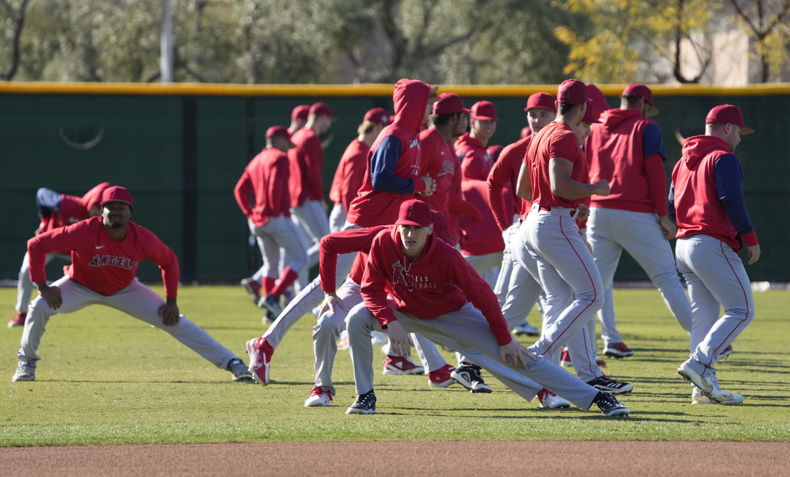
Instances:
[[[261,247],[263,266],[258,270],[261,279],[263,277],[276,278],[279,275],[280,248],[285,250],[283,266],[298,272],[300,276],[302,275],[307,250],[305,250],[299,230],[288,217],[269,217],[269,221],[260,227],[250,220],[249,225],[250,233],[258,238],[258,246]],[[256,280],[258,273],[253,276]]]

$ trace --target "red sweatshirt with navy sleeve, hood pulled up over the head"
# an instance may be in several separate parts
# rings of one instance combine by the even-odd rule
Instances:
[[[403,201],[425,190],[419,180],[419,126],[423,124],[429,89],[423,81],[395,84],[395,120],[378,134],[367,154],[365,178],[348,209],[349,223],[359,227],[389,225]]]

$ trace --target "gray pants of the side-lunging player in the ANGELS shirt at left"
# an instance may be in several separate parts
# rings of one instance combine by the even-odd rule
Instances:
[[[213,339],[204,329],[189,321],[184,315],[179,315],[177,324],[166,326],[159,316],[159,308],[164,305],[164,299],[135,278],[128,287],[122,288],[112,295],[100,295],[87,287],[77,283],[68,276],[56,280],[53,287],[59,287],[63,304],[58,310],[52,310],[41,297],[33,300],[30,314],[24,322],[22,343],[17,356],[22,361],[41,359],[36,351],[41,342],[41,336],[47,328],[50,317],[59,313],[73,313],[82,310],[88,305],[104,305],[122,311],[138,320],[145,321],[156,328],[164,329],[179,340],[182,344],[203,358],[208,359],[214,366],[224,370],[228,362],[235,359],[235,355],[227,347],[222,346]]]

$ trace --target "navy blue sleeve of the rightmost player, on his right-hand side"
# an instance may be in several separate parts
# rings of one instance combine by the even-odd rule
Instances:
[[[749,219],[746,202],[743,201],[743,169],[735,154],[724,154],[713,166],[713,178],[716,179],[716,192],[724,212],[732,222],[732,227],[740,235],[747,235],[754,230]]]

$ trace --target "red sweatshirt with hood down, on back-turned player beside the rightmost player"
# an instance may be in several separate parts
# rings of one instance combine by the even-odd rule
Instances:
[[[619,208],[631,212],[667,215],[667,173],[660,128],[636,109],[610,109],[600,115],[601,124],[592,125],[585,144],[590,183],[609,181],[611,193],[592,197],[592,207]],[[649,144],[645,156],[645,130],[657,131],[660,148]]]

